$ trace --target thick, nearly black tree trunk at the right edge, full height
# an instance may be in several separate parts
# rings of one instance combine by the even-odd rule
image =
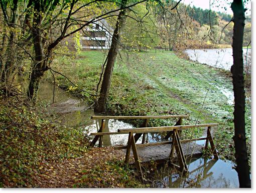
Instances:
[[[244,8],[242,0],[234,0],[231,4],[234,14],[233,29],[233,65],[231,67],[234,91],[234,145],[236,158],[236,171],[240,187],[250,187],[249,165],[245,138],[245,96],[243,80],[242,42],[244,29]]]

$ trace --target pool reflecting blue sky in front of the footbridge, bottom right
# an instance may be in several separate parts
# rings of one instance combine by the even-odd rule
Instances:
[[[187,164],[189,172],[183,176],[177,172],[173,173],[172,167],[160,165],[158,172],[161,177],[158,178],[161,180],[156,180],[154,186],[197,188],[239,187],[237,172],[233,169],[234,164],[231,161],[200,157],[188,160]]]

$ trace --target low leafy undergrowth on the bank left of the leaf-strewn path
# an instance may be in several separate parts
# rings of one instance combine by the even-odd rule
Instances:
[[[0,109],[0,175],[6,186],[31,186],[45,165],[87,151],[80,129],[50,123],[15,98],[1,96]]]

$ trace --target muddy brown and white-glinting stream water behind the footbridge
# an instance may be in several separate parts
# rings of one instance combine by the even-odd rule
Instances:
[[[18,77],[17,82],[22,84],[17,86],[17,88],[25,93],[28,84],[26,81],[22,81],[20,79],[21,77]],[[95,114],[93,109],[89,108],[89,105],[85,101],[56,86],[54,90],[53,103],[53,90],[53,84],[46,81],[40,82],[38,105],[41,106],[45,113],[57,113],[57,120],[61,121],[62,124],[69,127],[81,127],[84,129],[85,134],[97,132],[100,125],[99,122],[101,120],[91,119],[91,116]],[[110,119],[105,122],[104,132],[116,132],[117,129],[121,128],[134,128],[134,126],[120,120]],[[103,137],[103,146],[125,145],[127,141],[128,134],[105,135]],[[140,142],[141,139],[137,141],[137,143]]]

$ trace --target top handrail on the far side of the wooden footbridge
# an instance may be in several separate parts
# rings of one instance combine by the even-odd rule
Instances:
[[[91,119],[168,119],[189,117],[189,115],[156,115],[156,116],[91,116]]]

